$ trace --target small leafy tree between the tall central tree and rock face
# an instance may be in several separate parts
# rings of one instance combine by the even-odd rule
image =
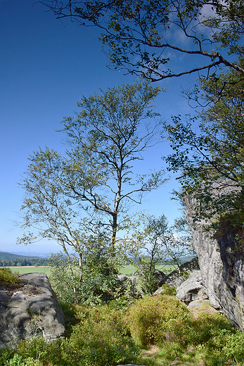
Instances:
[[[192,238],[184,217],[176,219],[169,227],[167,217],[146,218],[143,229],[138,229],[131,239],[131,258],[139,268],[143,291],[153,294],[157,284],[156,266],[167,261],[180,272],[181,258],[193,253]]]

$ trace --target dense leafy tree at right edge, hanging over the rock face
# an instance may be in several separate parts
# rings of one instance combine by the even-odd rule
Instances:
[[[221,72],[214,82],[202,82],[201,88],[211,105],[195,118],[178,116],[171,125],[165,124],[174,149],[165,160],[169,170],[181,172],[183,194],[198,201],[195,219],[215,217],[217,226],[219,220],[229,222],[229,228],[242,226],[243,80],[239,72]]]

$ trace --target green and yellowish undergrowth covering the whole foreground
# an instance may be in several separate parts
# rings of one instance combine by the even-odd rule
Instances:
[[[3,366],[115,366],[134,364],[243,366],[244,336],[220,314],[198,317],[165,286],[159,296],[134,303],[118,299],[87,308],[63,304],[68,337],[20,341],[0,351]],[[157,346],[153,357],[146,350]]]

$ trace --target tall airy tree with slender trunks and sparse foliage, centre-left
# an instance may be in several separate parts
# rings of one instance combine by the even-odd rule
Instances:
[[[82,111],[63,120],[65,154],[46,148],[30,157],[22,182],[23,228],[29,232],[19,242],[55,240],[68,258],[74,284],[69,248],[78,253],[80,269],[95,255],[97,263],[105,261],[100,273],[113,276],[123,252],[117,233],[129,229],[129,203],[141,203],[144,194],[165,182],[162,171],[136,179],[133,172],[143,151],[158,142],[160,122],[151,103],[159,92],[136,82],[83,96],[77,103]]]

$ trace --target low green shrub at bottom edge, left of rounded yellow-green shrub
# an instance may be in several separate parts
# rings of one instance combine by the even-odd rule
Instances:
[[[113,366],[134,363],[139,348],[128,336],[120,333],[115,322],[91,318],[73,328],[70,339],[62,345],[63,359],[70,366]]]

